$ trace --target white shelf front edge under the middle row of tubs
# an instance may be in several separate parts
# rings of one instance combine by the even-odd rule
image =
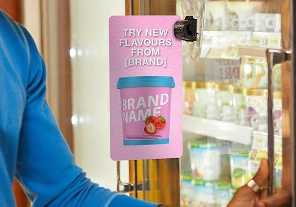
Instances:
[[[253,128],[183,114],[183,131],[244,145],[252,144]]]

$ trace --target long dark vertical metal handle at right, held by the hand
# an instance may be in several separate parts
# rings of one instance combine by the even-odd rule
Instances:
[[[268,165],[269,165],[269,177],[268,177],[268,195],[272,195],[275,192],[274,187],[274,123],[273,123],[273,86],[272,86],[272,67],[275,64],[282,63],[286,60],[290,60],[292,57],[292,51],[279,50],[279,49],[267,49],[266,58],[268,64],[268,78],[267,78],[267,115],[268,115]]]

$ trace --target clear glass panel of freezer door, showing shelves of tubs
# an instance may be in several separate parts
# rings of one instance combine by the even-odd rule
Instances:
[[[201,58],[191,60],[184,45],[182,206],[226,206],[268,156],[266,49],[282,48],[281,4],[206,1]],[[176,5],[180,13],[181,1]],[[284,64],[271,70],[276,188],[282,187]]]

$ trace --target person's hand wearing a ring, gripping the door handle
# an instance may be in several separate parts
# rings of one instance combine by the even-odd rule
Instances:
[[[253,177],[253,180],[259,186],[262,186],[267,181],[268,175],[268,162],[267,159],[263,158],[260,163],[260,168]],[[290,202],[291,197],[289,193],[284,190],[278,190],[274,195],[268,197],[266,189],[255,193],[248,185],[244,185],[236,191],[228,207],[281,207]]]

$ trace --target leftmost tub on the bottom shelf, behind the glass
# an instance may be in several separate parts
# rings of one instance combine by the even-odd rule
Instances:
[[[190,174],[181,176],[181,206],[191,206],[193,201],[193,185]]]

